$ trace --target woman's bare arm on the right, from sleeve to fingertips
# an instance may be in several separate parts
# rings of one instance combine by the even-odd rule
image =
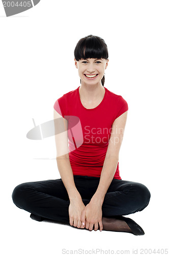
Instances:
[[[115,119],[114,123],[112,124],[111,136],[109,139],[98,188],[93,195],[90,203],[82,212],[81,220],[83,221],[86,216],[86,228],[89,228],[90,230],[93,229],[93,225],[95,225],[94,230],[97,230],[98,223],[100,225],[100,231],[103,229],[101,208],[107,189],[112,179],[114,178],[117,169],[117,164],[119,161],[119,151],[122,144],[124,129],[127,120],[127,112],[128,111]]]

